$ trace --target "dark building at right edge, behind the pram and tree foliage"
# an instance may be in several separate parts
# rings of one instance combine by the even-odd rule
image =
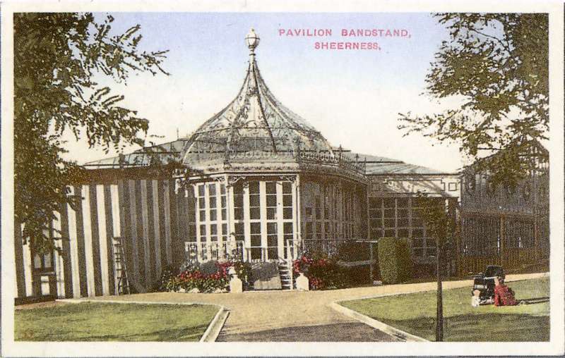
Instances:
[[[549,158],[541,144],[534,147],[541,152],[537,157]],[[462,171],[460,274],[483,271],[487,264],[549,269],[549,161],[535,167],[515,187],[494,185],[476,165]]]

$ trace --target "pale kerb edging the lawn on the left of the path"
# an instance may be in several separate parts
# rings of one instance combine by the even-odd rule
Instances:
[[[210,304],[206,302],[148,302],[148,301],[120,301],[120,300],[90,300],[88,298],[66,298],[55,300],[57,302],[65,303],[82,303],[82,302],[96,302],[96,303],[121,303],[121,304],[176,304],[181,306],[194,306],[196,304],[215,306],[218,307],[218,312],[216,312],[214,318],[208,324],[206,331],[204,331],[202,337],[198,342],[215,342],[218,339],[218,335],[224,328],[227,316],[230,315],[230,310],[223,307],[221,304]]]

